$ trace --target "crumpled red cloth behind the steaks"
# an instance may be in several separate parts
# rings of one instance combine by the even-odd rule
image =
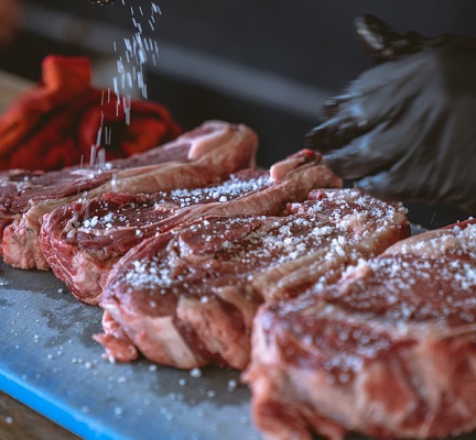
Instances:
[[[182,133],[169,110],[151,101],[132,100],[128,123],[123,99],[118,106],[112,90],[91,87],[88,58],[51,55],[42,68],[40,82],[0,116],[0,169],[57,169],[82,160],[88,164],[101,121],[100,146],[108,161]]]

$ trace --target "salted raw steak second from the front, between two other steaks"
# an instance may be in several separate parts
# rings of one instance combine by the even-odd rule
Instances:
[[[408,234],[399,204],[355,189],[315,191],[277,217],[204,218],[143,241],[113,266],[96,340],[120,361],[134,359],[137,348],[181,369],[244,369],[252,318],[278,273],[288,279],[280,288],[288,283],[295,296],[309,284],[292,276],[303,265],[324,285]]]

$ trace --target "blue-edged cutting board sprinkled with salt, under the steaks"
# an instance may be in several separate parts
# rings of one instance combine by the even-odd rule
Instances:
[[[84,439],[260,438],[237,372],[105,361],[101,310],[52,273],[1,262],[0,318],[0,389]]]

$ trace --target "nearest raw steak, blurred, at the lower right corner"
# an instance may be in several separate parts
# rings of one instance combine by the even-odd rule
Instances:
[[[253,322],[269,439],[444,438],[476,428],[476,221],[430,231]]]

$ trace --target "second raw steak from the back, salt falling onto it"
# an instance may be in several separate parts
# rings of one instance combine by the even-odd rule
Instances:
[[[340,186],[320,161],[318,154],[302,151],[271,172],[242,170],[219,185],[79,200],[45,216],[42,251],[78,299],[97,305],[112,265],[147,238],[204,216],[278,215],[288,201],[304,200],[316,186]]]

